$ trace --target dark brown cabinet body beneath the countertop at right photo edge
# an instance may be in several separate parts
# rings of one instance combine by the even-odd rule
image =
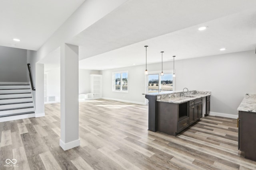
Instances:
[[[256,161],[256,113],[239,111],[238,113],[238,149],[244,157]]]

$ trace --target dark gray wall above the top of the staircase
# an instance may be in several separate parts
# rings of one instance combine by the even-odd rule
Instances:
[[[27,82],[27,50],[0,46],[0,82]]]

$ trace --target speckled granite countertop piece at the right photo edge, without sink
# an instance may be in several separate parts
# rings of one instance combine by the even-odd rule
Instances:
[[[256,94],[246,94],[237,110],[256,113]]]

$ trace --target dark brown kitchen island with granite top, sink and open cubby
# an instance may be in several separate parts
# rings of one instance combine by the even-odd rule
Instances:
[[[210,94],[196,90],[144,94],[148,99],[148,130],[176,136],[210,111]]]

